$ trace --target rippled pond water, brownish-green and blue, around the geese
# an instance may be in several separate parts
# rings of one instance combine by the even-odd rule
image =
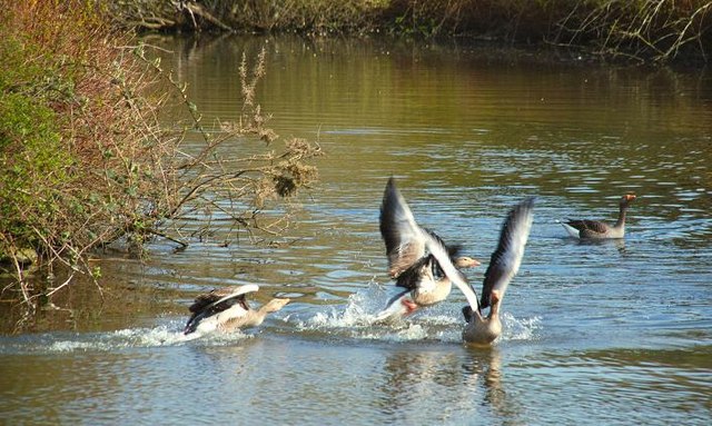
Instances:
[[[709,424],[710,73],[454,44],[147,41],[175,52],[164,66],[207,123],[238,116],[240,57],[264,46],[258,100],[281,139],[318,140],[320,182],[289,244],[107,255],[103,305],[69,289],[33,328],[6,324],[3,423]],[[389,176],[422,225],[483,260],[475,286],[507,209],[537,196],[492,348],[461,343],[457,290],[368,324],[396,291],[378,232]],[[614,221],[626,192],[625,240],[557,224]],[[256,330],[181,336],[192,297],[248,283],[258,303],[294,300]]]

